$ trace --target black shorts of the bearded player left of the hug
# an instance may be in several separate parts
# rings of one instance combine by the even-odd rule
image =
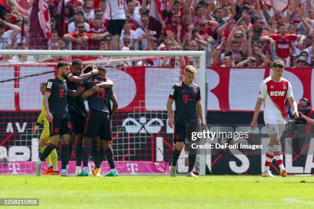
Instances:
[[[50,127],[50,137],[54,135],[63,135],[72,133],[72,123],[69,119],[60,119],[54,117],[51,122],[49,122]]]

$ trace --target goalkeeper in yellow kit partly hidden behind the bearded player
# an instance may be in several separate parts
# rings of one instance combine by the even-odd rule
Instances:
[[[41,92],[44,95],[46,91],[46,83],[41,82]],[[38,116],[38,119],[36,121],[35,126],[33,127],[33,133],[36,134],[39,124],[44,121],[44,130],[41,134],[38,147],[40,151],[43,153],[46,145],[50,143],[50,133],[49,133],[49,121],[46,119],[46,111],[44,107],[44,100],[42,102],[42,112],[40,116]],[[50,155],[45,159],[47,162],[47,171],[44,173],[44,175],[58,175],[58,154],[56,153],[56,150],[52,150]]]

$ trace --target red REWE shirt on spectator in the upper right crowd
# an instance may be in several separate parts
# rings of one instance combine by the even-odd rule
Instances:
[[[276,41],[276,55],[281,58],[287,58],[291,55],[290,44],[298,39],[298,36],[293,34],[285,34],[284,38],[280,37],[280,34],[273,34],[269,37]]]

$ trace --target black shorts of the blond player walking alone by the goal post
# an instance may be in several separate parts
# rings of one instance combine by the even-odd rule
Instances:
[[[197,124],[186,128],[185,125],[176,122],[174,125],[173,141],[189,143],[191,141],[192,132],[197,131],[196,127]]]

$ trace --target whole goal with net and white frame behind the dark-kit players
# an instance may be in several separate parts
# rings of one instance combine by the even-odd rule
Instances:
[[[35,133],[32,129],[42,108],[40,83],[56,75],[57,61],[79,58],[83,68],[89,64],[107,68],[106,76],[114,83],[113,92],[119,103],[112,117],[111,147],[121,174],[169,174],[174,144],[166,103],[172,86],[182,81],[186,65],[197,68],[194,82],[200,86],[202,102],[205,101],[203,51],[2,50],[0,55],[0,174],[34,174],[43,131],[43,124]],[[203,107],[205,114],[204,103]],[[175,110],[174,105],[172,108]],[[75,149],[74,144],[69,173],[75,170]],[[183,150],[178,172],[187,172],[187,165],[188,151]],[[46,162],[44,169],[45,166]],[[106,160],[101,168],[104,172],[109,170]],[[90,173],[92,169],[90,157]],[[197,157],[194,169],[205,174],[205,156]]]

